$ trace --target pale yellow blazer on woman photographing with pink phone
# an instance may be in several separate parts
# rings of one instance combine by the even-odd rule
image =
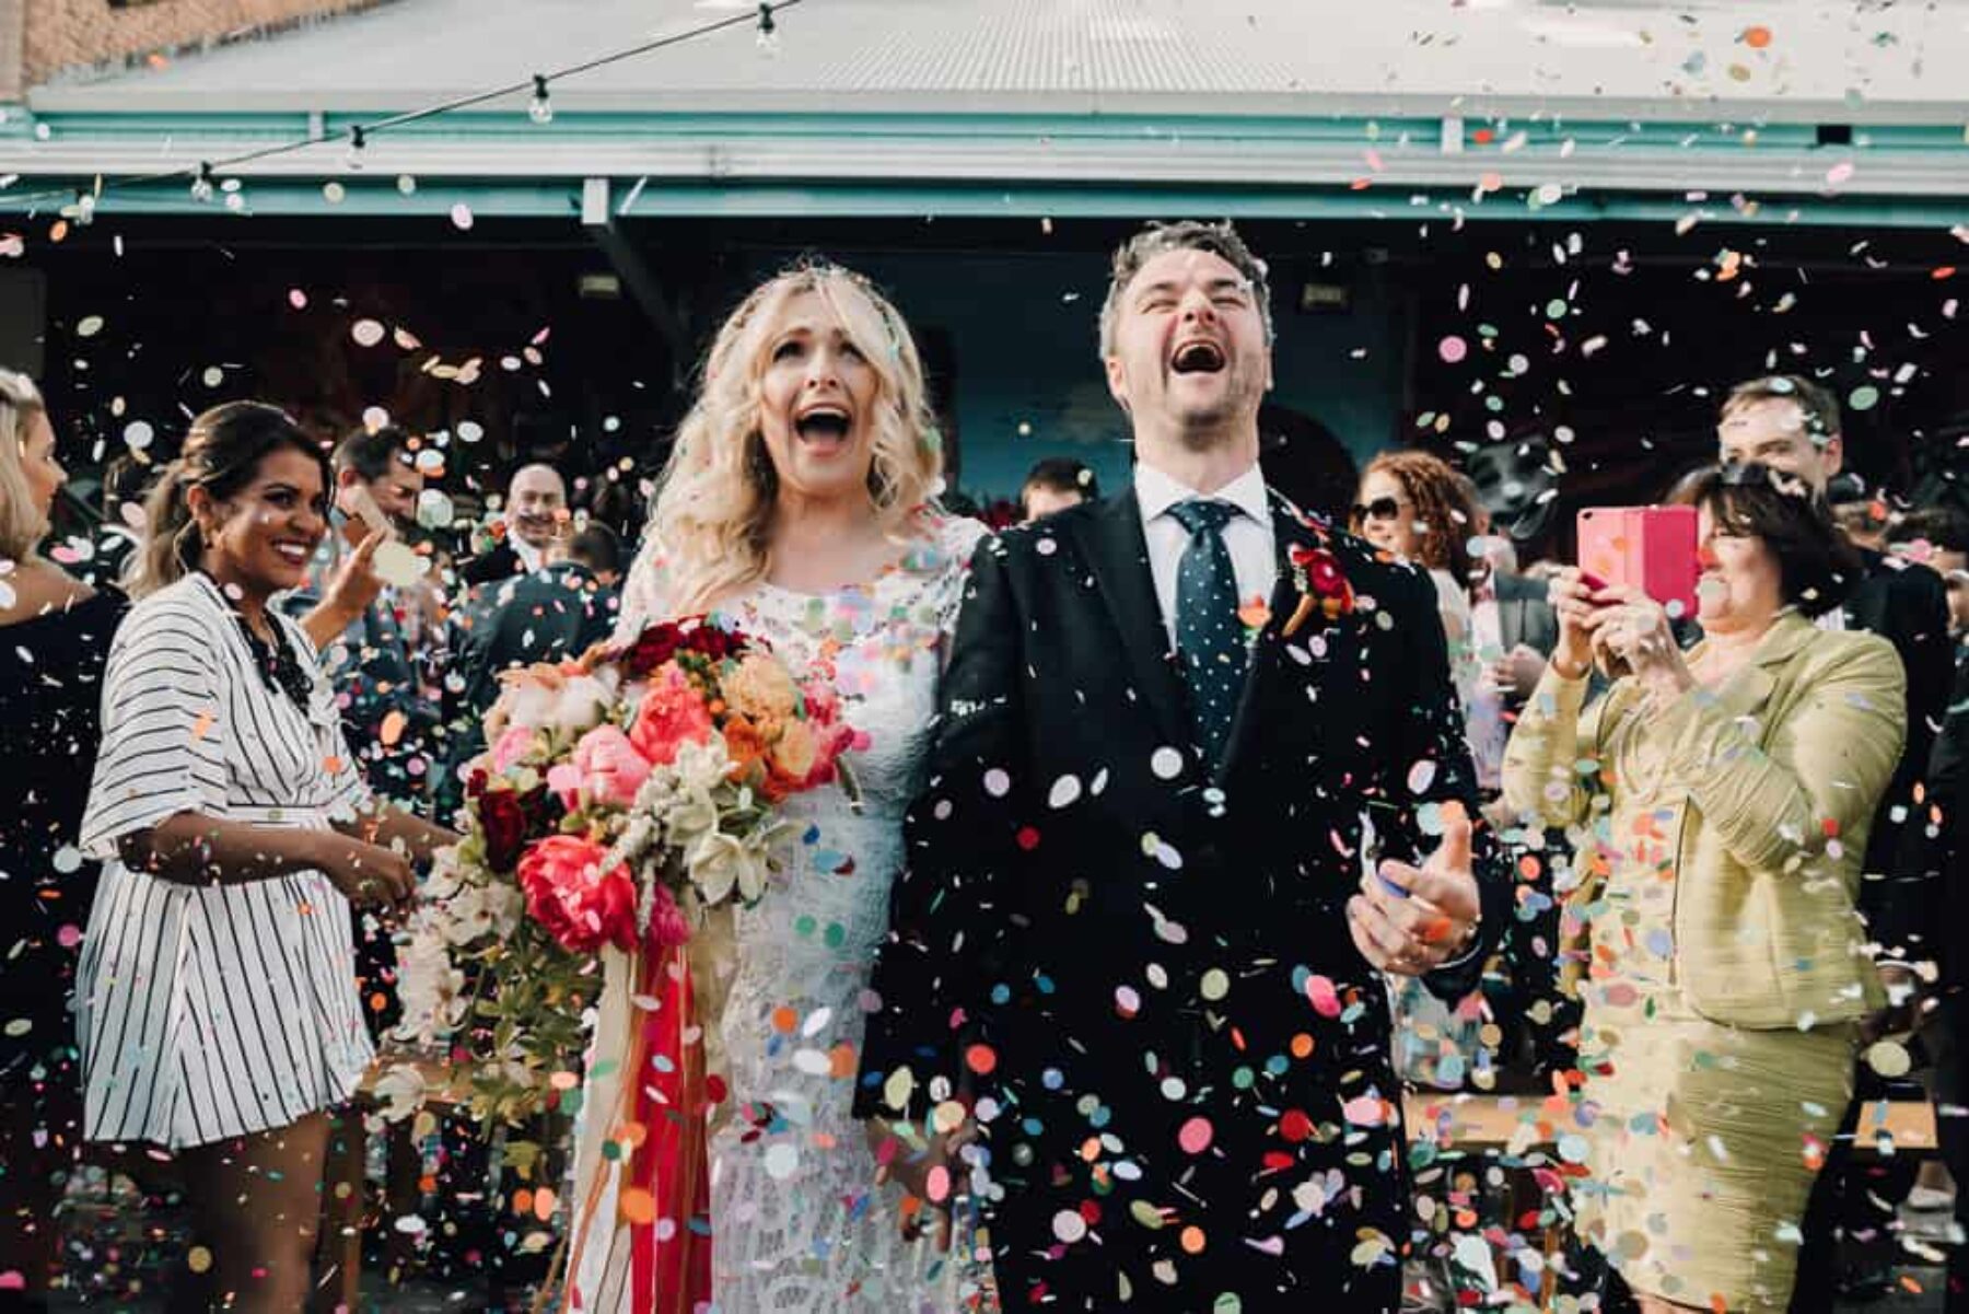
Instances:
[[[1796,613],[1719,688],[1666,707],[1624,678],[1581,715],[1585,680],[1548,668],[1504,751],[1504,800],[1567,827],[1583,857],[1595,841],[1628,841],[1622,782],[1662,782],[1654,804],[1672,798],[1682,814],[1683,1001],[1750,1028],[1859,1018],[1882,1003],[1855,904],[1867,831],[1906,739],[1906,686],[1884,638],[1825,632]],[[1583,879],[1567,906],[1591,904],[1599,885]]]

